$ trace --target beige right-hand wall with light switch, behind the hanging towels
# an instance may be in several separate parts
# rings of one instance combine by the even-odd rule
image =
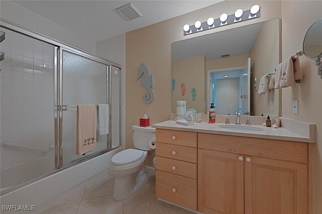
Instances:
[[[282,1],[282,60],[301,50],[308,28],[321,17],[320,1]],[[305,16],[304,16],[305,15]],[[322,79],[317,76],[314,60],[300,57],[304,79],[300,84],[282,89],[282,116],[316,124],[313,147],[313,210],[322,210]],[[298,115],[292,113],[293,99],[298,99]]]

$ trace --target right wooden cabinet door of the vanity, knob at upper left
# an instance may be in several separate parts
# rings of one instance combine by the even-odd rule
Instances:
[[[305,214],[307,165],[245,155],[245,213]]]

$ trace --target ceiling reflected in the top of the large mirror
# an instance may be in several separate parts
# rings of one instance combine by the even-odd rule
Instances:
[[[256,23],[213,34],[181,40],[172,44],[172,59],[205,56],[221,58],[222,54],[249,54],[263,23]]]

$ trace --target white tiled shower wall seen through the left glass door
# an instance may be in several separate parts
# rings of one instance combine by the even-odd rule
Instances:
[[[54,48],[7,29],[2,31],[6,39],[0,44],[5,52],[5,60],[0,62],[1,141],[48,149],[54,139]],[[2,147],[0,152],[1,168],[44,155],[9,147]]]

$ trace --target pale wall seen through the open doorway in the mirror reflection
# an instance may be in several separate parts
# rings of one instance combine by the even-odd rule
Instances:
[[[219,115],[232,115],[239,109],[239,78],[217,79],[216,110]]]

